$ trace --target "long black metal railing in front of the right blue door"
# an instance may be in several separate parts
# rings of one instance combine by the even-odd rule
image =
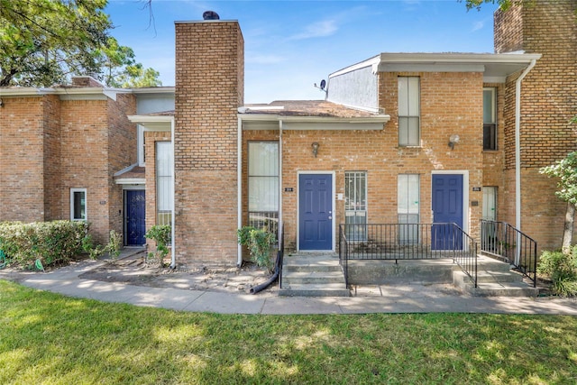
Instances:
[[[339,261],[450,258],[477,287],[477,243],[456,224],[339,225]]]

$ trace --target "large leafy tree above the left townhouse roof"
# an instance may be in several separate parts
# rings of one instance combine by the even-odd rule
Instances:
[[[71,75],[114,86],[160,84],[134,52],[110,36],[107,0],[0,0],[0,87],[50,87]],[[139,70],[139,67],[141,70]]]

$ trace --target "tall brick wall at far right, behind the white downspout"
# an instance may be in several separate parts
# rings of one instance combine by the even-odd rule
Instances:
[[[540,249],[560,247],[565,206],[554,197],[555,182],[539,168],[577,149],[577,127],[569,120],[577,112],[576,0],[540,0],[496,14],[495,44],[509,50],[510,35],[518,36],[520,50],[541,53],[536,67],[521,86],[521,201],[522,230],[536,239]],[[509,14],[510,13],[510,14]],[[510,23],[512,25],[499,25]],[[517,47],[516,47],[517,48]],[[505,192],[507,216],[515,219],[515,80],[505,90]]]

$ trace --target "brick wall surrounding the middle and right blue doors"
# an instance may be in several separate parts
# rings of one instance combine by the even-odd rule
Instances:
[[[297,247],[298,171],[334,171],[334,194],[344,194],[345,171],[367,172],[369,223],[397,223],[398,174],[420,175],[420,215],[431,223],[431,182],[433,171],[469,170],[469,229],[478,235],[482,192],[471,187],[483,185],[482,74],[420,73],[422,146],[398,147],[398,73],[380,73],[380,106],[391,116],[380,131],[290,131],[282,134],[282,207],[288,250]],[[408,75],[408,74],[403,74]],[[459,134],[454,150],[449,137]],[[243,132],[243,197],[246,190],[246,146],[248,141],[274,140],[272,131]],[[320,148],[315,158],[311,143]],[[284,188],[293,188],[285,192]],[[244,223],[247,211],[243,202]],[[336,225],[344,223],[344,200],[335,201]],[[337,226],[338,228],[338,226]],[[334,237],[338,236],[337,233]]]

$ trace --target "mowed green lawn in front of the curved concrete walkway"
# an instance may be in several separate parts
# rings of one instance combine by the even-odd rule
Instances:
[[[573,316],[230,316],[0,280],[3,384],[576,382]]]

